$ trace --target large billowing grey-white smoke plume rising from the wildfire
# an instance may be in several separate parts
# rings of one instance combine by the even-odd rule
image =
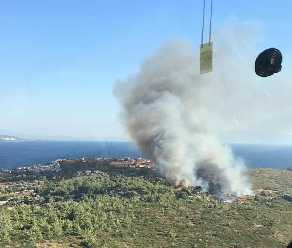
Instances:
[[[212,73],[200,75],[199,49],[184,40],[170,40],[143,61],[136,75],[118,82],[114,94],[129,135],[169,180],[201,185],[214,194],[248,195],[252,192],[243,162],[217,134],[237,124],[250,96],[243,85],[253,89],[245,79],[254,76],[247,70],[254,61],[243,53],[247,32],[234,35],[232,27],[224,32],[214,42],[219,52],[214,52]],[[228,35],[232,45],[226,42]]]

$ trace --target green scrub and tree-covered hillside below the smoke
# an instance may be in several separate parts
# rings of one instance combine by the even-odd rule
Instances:
[[[292,171],[252,169],[257,195],[223,202],[149,170],[83,163],[110,176],[71,178],[80,164],[62,166],[0,184],[0,247],[284,248],[291,236]]]

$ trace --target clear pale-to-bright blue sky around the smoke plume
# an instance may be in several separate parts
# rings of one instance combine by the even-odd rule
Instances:
[[[280,2],[214,0],[213,24],[231,18],[260,23],[258,50],[291,54],[292,1]],[[115,81],[136,72],[168,38],[188,39],[197,49],[202,3],[1,1],[0,133],[127,139],[112,94]]]

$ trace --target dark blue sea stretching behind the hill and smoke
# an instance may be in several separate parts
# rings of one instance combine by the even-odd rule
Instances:
[[[233,154],[247,167],[287,169],[292,167],[292,146],[233,144]],[[141,157],[130,142],[97,141],[25,141],[0,142],[0,168],[51,162],[80,157]]]

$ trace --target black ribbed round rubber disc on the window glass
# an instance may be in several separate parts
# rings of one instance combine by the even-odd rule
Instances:
[[[269,77],[281,71],[281,63],[282,53],[276,48],[268,48],[256,58],[256,74],[260,77]]]

